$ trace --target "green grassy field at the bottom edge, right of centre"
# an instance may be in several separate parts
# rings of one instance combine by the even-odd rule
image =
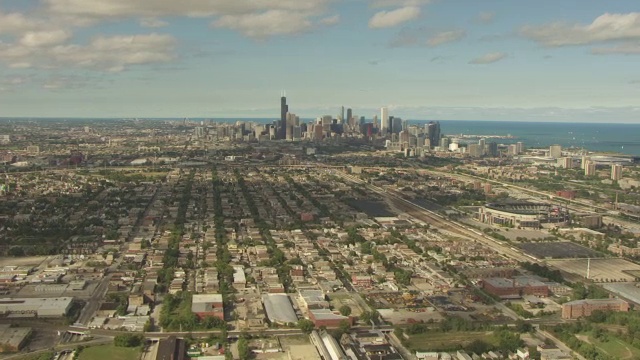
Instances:
[[[474,340],[483,340],[496,345],[491,331],[426,333],[411,335],[405,339],[406,346],[412,351],[441,351],[460,349]]]

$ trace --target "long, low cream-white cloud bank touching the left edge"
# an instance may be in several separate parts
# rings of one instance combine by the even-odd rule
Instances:
[[[96,37],[87,45],[0,44],[0,61],[14,68],[75,67],[117,72],[132,65],[171,61],[175,58],[174,46],[172,36],[160,34]]]

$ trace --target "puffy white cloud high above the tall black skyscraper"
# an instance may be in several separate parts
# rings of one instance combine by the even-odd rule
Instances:
[[[311,21],[303,13],[269,10],[259,14],[225,15],[214,21],[213,26],[236,30],[250,38],[265,39],[307,31]]]

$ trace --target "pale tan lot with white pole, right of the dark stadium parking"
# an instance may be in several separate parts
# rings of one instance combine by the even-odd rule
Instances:
[[[571,274],[587,275],[587,259],[547,260],[547,264]],[[589,278],[597,282],[634,281],[634,277],[625,270],[637,271],[640,265],[624,259],[591,259]]]

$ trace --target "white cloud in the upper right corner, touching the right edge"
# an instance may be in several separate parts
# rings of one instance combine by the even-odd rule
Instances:
[[[520,29],[520,34],[549,47],[640,40],[640,12],[606,13],[588,25],[562,22],[540,26],[528,25]]]

